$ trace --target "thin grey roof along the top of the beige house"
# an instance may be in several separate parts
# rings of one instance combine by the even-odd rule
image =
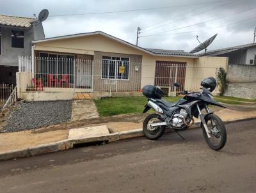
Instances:
[[[196,54],[191,54],[188,52],[184,52],[182,50],[145,49],[143,47],[139,47],[132,43],[126,42],[125,40],[122,40],[120,38],[116,38],[115,36],[111,36],[102,31],[93,31],[93,32],[89,32],[89,33],[77,33],[74,35],[65,35],[65,36],[56,36],[56,37],[52,37],[52,38],[45,38],[42,40],[35,40],[35,41],[33,41],[33,43],[47,42],[47,41],[52,41],[52,40],[61,40],[61,39],[66,39],[66,38],[77,38],[77,37],[81,37],[81,36],[90,36],[90,35],[106,36],[108,38],[111,38],[112,40],[116,40],[117,42],[124,43],[125,45],[129,45],[130,47],[133,47],[134,49],[141,50],[143,52],[146,52],[146,53],[148,53],[150,55],[154,55],[154,56],[174,56],[174,57],[198,58],[198,56]]]

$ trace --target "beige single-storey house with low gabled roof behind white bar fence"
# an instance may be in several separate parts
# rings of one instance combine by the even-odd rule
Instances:
[[[70,96],[56,96],[63,91],[99,95],[109,91],[138,92],[146,84],[170,93],[176,91],[175,81],[181,83],[180,90],[198,90],[205,76],[215,77],[220,67],[227,69],[227,58],[144,49],[102,31],[35,40],[32,53],[32,65],[28,62],[20,66],[26,71],[19,78],[19,92],[24,94],[20,97],[25,99],[44,95],[44,91],[58,99]],[[43,87],[43,92],[29,93],[33,86]]]

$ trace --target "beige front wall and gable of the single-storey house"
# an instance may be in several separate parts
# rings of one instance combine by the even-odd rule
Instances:
[[[133,61],[141,62],[141,69],[140,72],[138,72],[140,73],[139,76],[141,76],[140,85],[135,86],[138,86],[138,88],[142,88],[146,84],[154,84],[156,61],[186,62],[185,89],[188,90],[198,90],[200,88],[200,81],[204,77],[210,75],[215,77],[216,68],[223,67],[227,70],[228,63],[228,59],[225,57],[189,58],[186,56],[154,56],[103,35],[80,36],[76,38],[38,42],[35,44],[35,50],[88,54],[93,56],[95,63],[101,63],[102,56],[129,57],[131,58],[131,63]],[[95,82],[93,87],[97,90],[97,84],[101,84],[100,87],[102,88],[104,82],[101,80],[101,70],[97,72],[96,69],[93,68],[93,73],[99,75],[99,77],[93,81]],[[132,79],[129,81],[118,81],[118,84],[129,89],[130,86],[134,87],[133,84],[136,81],[138,83],[138,80]],[[113,86],[113,89],[115,89],[115,86]]]

